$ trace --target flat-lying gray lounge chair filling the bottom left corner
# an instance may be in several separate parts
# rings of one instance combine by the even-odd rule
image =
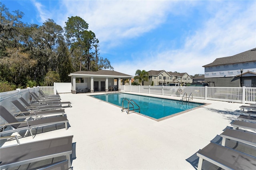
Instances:
[[[72,138],[73,136],[64,136],[1,147],[0,169],[11,168],[59,156],[66,156],[68,167],[71,167],[70,154],[72,154]]]

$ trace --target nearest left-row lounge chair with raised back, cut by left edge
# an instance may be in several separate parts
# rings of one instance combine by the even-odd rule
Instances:
[[[17,119],[12,116],[12,114],[6,110],[3,106],[0,106],[0,116],[7,122],[7,124],[0,125],[0,127],[9,126],[10,130],[3,130],[0,132],[0,136],[2,134],[19,132],[20,130],[29,130],[32,138],[34,138],[32,134],[32,128],[36,127],[44,127],[48,125],[55,125],[58,123],[65,123],[66,130],[68,129],[68,119],[64,116],[61,117],[50,117],[45,119],[36,119],[34,121],[22,121],[19,122]],[[7,129],[7,128],[6,128]]]

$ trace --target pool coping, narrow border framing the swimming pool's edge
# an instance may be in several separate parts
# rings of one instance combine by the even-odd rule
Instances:
[[[134,93],[127,93],[127,92],[122,92],[122,91],[120,91],[120,92],[115,92],[115,93],[126,93],[126,94],[131,94],[131,95],[134,95]],[[113,94],[112,92],[105,92],[105,93],[100,93],[100,94],[98,94],[98,95],[102,95],[102,94]],[[88,95],[88,96],[90,96],[90,97],[93,97],[93,96],[95,96],[95,95],[97,95],[97,94],[90,94],[90,95]],[[137,94],[136,94],[137,95]],[[141,95],[141,94],[138,94],[138,95]],[[147,96],[147,97],[153,97],[153,96],[150,96],[150,95],[141,95],[141,96]],[[167,98],[167,97],[156,97],[156,98],[162,98],[162,99],[169,99],[169,98]],[[94,99],[95,99],[95,97],[94,97]],[[98,98],[96,98],[96,99],[98,99]],[[100,100],[100,101],[104,101],[104,100],[101,100],[101,99],[98,99],[98,100]],[[176,99],[169,99],[169,100],[176,100]],[[180,100],[176,100],[176,101],[180,101]],[[106,102],[106,101],[104,101],[104,102]],[[188,102],[188,101],[184,101],[184,102]],[[202,108],[202,107],[205,107],[205,106],[208,106],[208,105],[211,105],[211,103],[202,103],[202,102],[194,102],[194,101],[190,101],[191,103],[200,103],[200,104],[203,104],[203,105],[201,105],[201,106],[198,106],[198,107],[194,107],[194,108],[192,108],[192,109],[188,109],[188,110],[186,110],[186,111],[182,111],[182,112],[178,112],[178,113],[174,113],[174,114],[172,114],[172,115],[168,115],[168,116],[166,116],[166,117],[162,117],[162,118],[159,118],[159,119],[155,119],[155,118],[153,118],[153,117],[150,117],[150,116],[148,116],[148,115],[144,115],[144,114],[142,114],[142,113],[138,113],[138,112],[131,112],[131,113],[136,113],[136,114],[138,114],[138,115],[141,115],[141,116],[143,116],[143,117],[147,117],[147,118],[149,118],[149,119],[152,119],[152,120],[154,120],[154,121],[157,121],[157,122],[160,122],[160,121],[164,121],[164,120],[166,120],[166,119],[169,119],[169,118],[171,118],[171,117],[175,117],[175,116],[178,116],[178,115],[181,115],[181,114],[183,114],[183,113],[187,113],[187,112],[189,112],[189,111],[193,111],[193,110],[195,110],[195,109],[199,109],[199,108]],[[109,102],[106,102],[106,103],[108,103],[108,104],[111,104],[111,105],[114,105],[113,103],[109,103]],[[118,105],[114,105],[114,106],[116,106],[116,107],[120,107],[120,106],[118,106]],[[121,109],[122,109],[122,107],[120,107]],[[122,110],[121,110],[122,111]],[[122,112],[125,112],[125,111],[122,111]],[[131,113],[127,113],[127,114],[131,114]]]

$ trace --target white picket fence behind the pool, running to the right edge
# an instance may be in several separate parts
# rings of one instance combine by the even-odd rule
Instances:
[[[256,103],[255,87],[168,87],[168,86],[130,86],[122,85],[121,91],[136,93],[149,93],[157,95],[170,95],[182,97],[192,93],[193,98],[229,101],[235,103]]]

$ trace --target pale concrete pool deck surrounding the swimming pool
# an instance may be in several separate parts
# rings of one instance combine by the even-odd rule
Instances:
[[[239,106],[242,105],[193,99],[210,105],[158,122],[136,113],[127,115],[120,107],[88,95],[92,93],[60,94],[62,101],[72,103],[72,108],[65,109],[70,124],[68,130],[60,128],[41,133],[39,129],[34,139],[31,136],[19,138],[20,143],[74,135],[74,170],[193,170],[195,168],[186,159],[230,126],[230,122],[240,115]],[[14,143],[16,141],[11,140],[3,146]]]

